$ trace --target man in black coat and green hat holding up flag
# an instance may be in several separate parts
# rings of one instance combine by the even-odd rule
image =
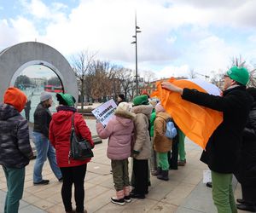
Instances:
[[[214,130],[201,155],[201,161],[212,171],[212,199],[218,213],[237,212],[232,176],[238,168],[242,130],[252,105],[252,97],[246,92],[248,80],[246,68],[233,66],[224,75],[223,96],[162,83],[163,88],[179,93],[186,101],[223,112],[223,122]]]

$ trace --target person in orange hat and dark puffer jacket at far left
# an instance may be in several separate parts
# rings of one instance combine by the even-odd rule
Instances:
[[[20,115],[26,95],[11,87],[3,95],[0,105],[0,164],[7,182],[4,213],[17,213],[22,198],[25,167],[33,157],[28,124]]]

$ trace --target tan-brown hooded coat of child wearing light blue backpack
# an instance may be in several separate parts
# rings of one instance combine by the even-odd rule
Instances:
[[[154,120],[154,151],[167,153],[172,149],[172,140],[166,137],[166,122],[171,119],[167,112],[158,112]]]

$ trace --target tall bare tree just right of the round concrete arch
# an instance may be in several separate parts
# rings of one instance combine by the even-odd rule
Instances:
[[[79,80],[79,91],[81,94],[81,108],[84,109],[84,92],[87,91],[88,85],[85,83],[86,75],[89,74],[96,53],[90,53],[89,50],[83,50],[78,55],[73,56],[73,72]]]

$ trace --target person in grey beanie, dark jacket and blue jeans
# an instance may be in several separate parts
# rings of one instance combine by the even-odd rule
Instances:
[[[42,170],[44,162],[48,158],[51,170],[55,177],[62,181],[61,170],[56,163],[55,148],[49,142],[49,123],[51,121],[51,113],[49,107],[52,105],[52,96],[43,92],[40,96],[40,103],[34,112],[34,129],[32,139],[37,149],[37,158],[33,170],[34,185],[46,185],[49,180],[44,180]]]

